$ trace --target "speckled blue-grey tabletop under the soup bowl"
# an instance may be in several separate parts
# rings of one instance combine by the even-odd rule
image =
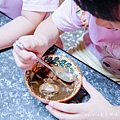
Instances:
[[[0,26],[10,19],[0,14]],[[55,53],[72,59],[87,80],[113,105],[120,105],[120,85],[83,64],[56,46],[48,53]],[[45,104],[34,98],[24,83],[25,71],[14,61],[12,48],[0,51],[0,120],[57,120],[46,109]],[[81,88],[69,102],[79,103],[89,100],[89,95]]]

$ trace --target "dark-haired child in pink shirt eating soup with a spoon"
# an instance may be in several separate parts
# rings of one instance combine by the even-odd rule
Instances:
[[[53,13],[52,17],[49,17],[37,27],[33,36],[24,36],[19,39],[26,50],[21,50],[15,44],[13,45],[13,55],[18,67],[30,69],[36,62],[36,55],[41,57],[55,43],[61,33],[85,26],[89,33],[84,35],[84,41],[81,42],[82,46],[78,48],[79,51],[83,51],[83,53],[81,51],[81,56],[85,60],[84,62],[89,64],[89,60],[91,60],[90,62],[95,64],[94,59],[96,57],[110,73],[103,71],[114,77],[116,81],[120,81],[120,1],[74,1],[65,0]],[[87,54],[85,55],[86,59],[84,59],[84,51]],[[102,69],[97,64],[95,66]],[[83,78],[83,86],[91,95],[91,99],[87,103],[65,104],[50,102],[46,108],[58,119],[118,120],[120,116],[119,106],[112,106],[86,82],[85,78]],[[104,113],[103,116],[101,113]],[[117,115],[110,116],[111,113],[117,113]]]

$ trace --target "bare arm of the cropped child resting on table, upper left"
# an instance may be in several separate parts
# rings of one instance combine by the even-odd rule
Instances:
[[[19,37],[34,32],[46,13],[22,11],[22,15],[0,28],[0,50],[11,47]]]

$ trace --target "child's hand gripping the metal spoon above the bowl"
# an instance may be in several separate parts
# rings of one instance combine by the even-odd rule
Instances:
[[[34,38],[33,35],[21,37],[18,41],[22,43],[24,49],[13,44],[13,56],[17,66],[22,70],[31,69],[37,60],[36,55],[41,57],[48,49],[44,40]]]

